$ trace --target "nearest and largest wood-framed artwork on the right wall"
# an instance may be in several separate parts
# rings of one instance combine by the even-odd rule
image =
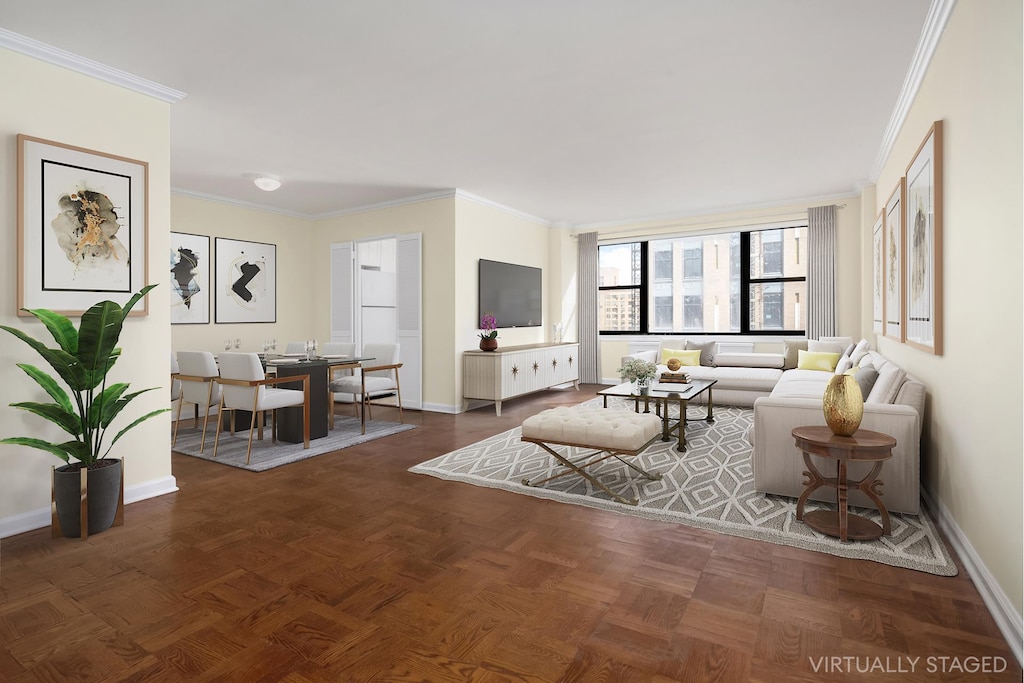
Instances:
[[[942,353],[942,122],[906,169],[906,343]]]

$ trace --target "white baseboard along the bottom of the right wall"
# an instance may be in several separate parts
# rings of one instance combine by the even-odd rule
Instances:
[[[1002,633],[1002,637],[1007,639],[1014,656],[1017,657],[1017,663],[1024,664],[1024,620],[1017,613],[1016,607],[1010,602],[1010,598],[996,583],[992,572],[978,556],[971,541],[949,514],[946,506],[942,505],[941,501],[933,496],[927,487],[922,486],[921,490],[925,498],[925,504],[935,515],[939,528],[945,532],[967,572],[971,574],[978,593],[981,594],[981,599],[985,601],[985,606],[988,607],[992,618],[995,620],[995,625]]]

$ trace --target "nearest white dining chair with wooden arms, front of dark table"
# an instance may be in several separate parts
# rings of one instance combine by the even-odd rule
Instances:
[[[290,377],[267,377],[256,353],[221,353],[220,380],[220,414],[231,413],[231,433],[234,433],[234,412],[251,411],[249,422],[249,446],[246,450],[246,464],[252,456],[253,430],[259,423],[259,437],[263,438],[263,414],[270,411],[270,438],[278,441],[278,410],[302,407],[303,447],[309,447],[309,375],[293,375]],[[282,382],[302,382],[302,390],[282,389],[273,386]],[[213,440],[213,457],[217,457],[217,444],[220,441],[221,420],[217,420],[217,435]]]

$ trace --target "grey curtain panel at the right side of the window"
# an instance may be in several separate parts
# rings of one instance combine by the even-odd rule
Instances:
[[[836,335],[836,206],[807,210],[807,338]]]

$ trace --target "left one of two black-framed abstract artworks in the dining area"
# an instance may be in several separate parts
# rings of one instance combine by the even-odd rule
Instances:
[[[171,232],[171,325],[210,322],[210,237]]]

